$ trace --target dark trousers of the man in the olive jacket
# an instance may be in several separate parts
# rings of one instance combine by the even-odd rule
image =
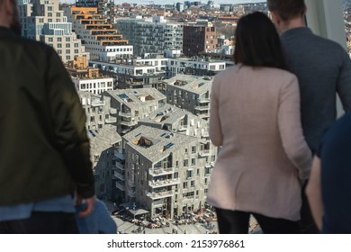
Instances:
[[[0,221],[0,234],[76,234],[74,213],[33,211],[29,219]]]

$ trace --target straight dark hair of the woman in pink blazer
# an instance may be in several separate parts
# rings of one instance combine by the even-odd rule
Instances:
[[[256,12],[241,17],[235,39],[235,63],[286,69],[278,32],[266,14]]]

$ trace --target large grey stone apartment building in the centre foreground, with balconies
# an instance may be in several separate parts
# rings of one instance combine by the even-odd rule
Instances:
[[[138,202],[151,217],[174,218],[199,211],[206,201],[211,166],[202,140],[141,125],[122,137],[126,202]]]

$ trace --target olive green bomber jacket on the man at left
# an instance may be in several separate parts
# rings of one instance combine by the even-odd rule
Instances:
[[[94,196],[85,112],[54,49],[0,27],[0,205]]]

